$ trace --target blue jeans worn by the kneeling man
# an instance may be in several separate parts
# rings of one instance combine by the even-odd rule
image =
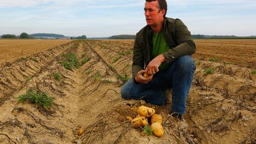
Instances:
[[[155,73],[148,84],[136,84],[131,78],[121,88],[121,97],[126,100],[144,100],[146,103],[164,105],[166,89],[172,88],[172,112],[184,114],[194,70],[192,57],[181,56],[172,62],[166,71]]]

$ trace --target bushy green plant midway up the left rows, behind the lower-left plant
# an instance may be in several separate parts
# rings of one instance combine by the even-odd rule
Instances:
[[[79,68],[78,58],[75,53],[66,53],[66,54],[62,55],[62,57],[64,57],[65,60],[63,60],[59,63],[62,64],[64,66],[64,68],[66,68],[68,70],[72,70],[72,68],[74,66],[76,68]]]

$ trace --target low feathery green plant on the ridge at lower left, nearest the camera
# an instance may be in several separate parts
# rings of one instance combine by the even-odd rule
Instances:
[[[33,88],[28,89],[26,94],[19,95],[17,99],[19,99],[19,103],[28,101],[31,104],[36,104],[43,108],[49,108],[52,106],[54,100],[54,98],[48,97],[46,92],[36,91]]]

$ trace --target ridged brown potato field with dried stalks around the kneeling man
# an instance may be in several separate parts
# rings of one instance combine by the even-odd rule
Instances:
[[[207,46],[207,40],[196,40],[196,43],[197,52],[204,52],[202,47]],[[243,42],[227,40],[220,41],[223,44],[219,45],[218,41],[210,40],[209,43],[225,49],[225,44],[238,47],[236,45]],[[253,65],[229,64],[228,60],[237,58],[231,57],[225,62],[214,55],[217,51],[193,55],[197,69],[187,100],[185,120],[188,128],[180,129],[180,123],[170,116],[167,107],[120,97],[125,75],[131,77],[132,49],[132,40],[79,40],[2,64],[0,142],[255,143],[256,75],[252,73]],[[247,51],[249,49],[241,50]],[[79,68],[67,70],[59,61],[63,60],[63,54],[70,52],[78,56],[79,62],[90,59]],[[209,62],[212,56],[221,60]],[[227,50],[228,56],[231,54]],[[213,74],[206,74],[209,68],[214,70]],[[62,73],[63,79],[57,81],[53,76],[55,72]],[[28,88],[47,92],[55,98],[55,104],[45,109],[18,103],[18,95],[25,94]],[[140,105],[155,107],[156,113],[161,114],[163,137],[142,136],[142,129],[131,127],[126,116],[136,116],[132,109]],[[77,134],[79,129],[84,130],[81,136]]]

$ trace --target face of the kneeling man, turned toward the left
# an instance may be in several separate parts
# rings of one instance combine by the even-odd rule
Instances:
[[[144,11],[148,25],[155,26],[161,24],[164,19],[165,10],[159,11],[158,1],[146,2]]]

